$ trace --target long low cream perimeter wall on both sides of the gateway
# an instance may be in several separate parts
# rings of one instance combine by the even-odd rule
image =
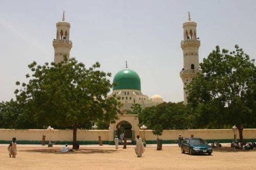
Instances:
[[[238,131],[235,132],[239,138]],[[9,143],[13,137],[16,137],[17,143],[20,144],[41,144],[42,135],[46,135],[46,141],[56,141],[57,144],[72,143],[72,130],[18,130],[18,129],[0,129],[0,143]],[[98,136],[101,136],[103,144],[113,143],[113,138],[109,138],[109,130],[78,130],[77,140],[80,144],[98,144]],[[139,131],[141,137],[144,132]],[[207,142],[219,140],[220,142],[231,142],[233,138],[233,130],[231,129],[206,129],[206,130],[164,130],[163,134],[159,136],[163,143],[176,143],[178,135],[181,134],[183,138],[199,137],[205,139]],[[243,135],[245,139],[256,140],[256,129],[244,129]],[[145,130],[146,143],[156,143],[156,136],[153,135],[152,130]]]

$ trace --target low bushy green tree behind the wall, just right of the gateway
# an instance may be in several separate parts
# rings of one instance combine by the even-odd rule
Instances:
[[[189,109],[183,103],[161,103],[147,107],[139,114],[141,125],[148,129],[161,125],[163,129],[187,129],[190,125]]]

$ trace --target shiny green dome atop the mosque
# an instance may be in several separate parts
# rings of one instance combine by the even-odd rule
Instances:
[[[114,77],[113,83],[116,83],[116,86],[113,87],[113,90],[140,90],[140,77],[139,75],[131,69],[123,69]]]

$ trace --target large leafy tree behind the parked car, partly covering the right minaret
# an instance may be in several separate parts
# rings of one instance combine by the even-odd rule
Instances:
[[[243,141],[243,128],[255,125],[256,67],[242,48],[238,45],[235,48],[228,53],[217,46],[200,63],[202,74],[186,89],[188,102],[194,109],[207,110],[205,124],[230,128],[236,125]]]

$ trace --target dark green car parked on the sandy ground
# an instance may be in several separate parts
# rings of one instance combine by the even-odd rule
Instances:
[[[196,153],[207,153],[211,155],[212,148],[201,138],[185,138],[181,143],[181,153],[188,152],[189,155]]]

